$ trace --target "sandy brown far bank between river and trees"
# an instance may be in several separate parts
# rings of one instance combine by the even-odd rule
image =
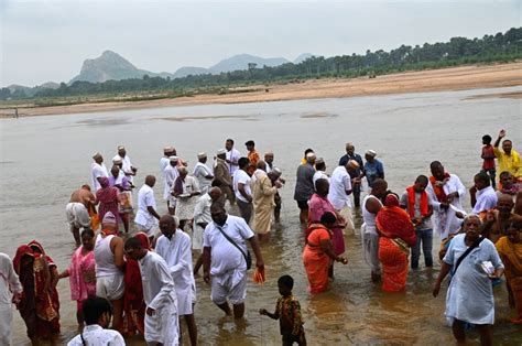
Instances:
[[[102,101],[50,107],[19,107],[19,117],[149,109],[174,106],[246,104],[345,98],[356,96],[465,90],[522,85],[522,62],[494,65],[459,66],[422,72],[406,72],[377,78],[324,78],[301,83],[254,85],[231,89],[232,94],[206,94],[193,97],[162,98],[140,101]],[[496,94],[492,97],[522,98],[522,93]],[[13,118],[14,108],[0,109],[0,118]]]

